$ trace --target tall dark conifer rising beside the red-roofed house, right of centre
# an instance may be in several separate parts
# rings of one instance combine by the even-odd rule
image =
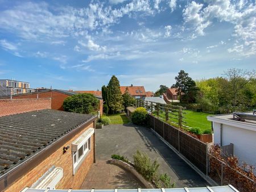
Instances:
[[[175,77],[176,84],[172,85],[172,88],[176,88],[177,94],[180,97],[180,102],[182,102],[182,97],[189,102],[195,101],[196,98],[196,82],[185,73],[184,70],[180,70],[178,76]]]

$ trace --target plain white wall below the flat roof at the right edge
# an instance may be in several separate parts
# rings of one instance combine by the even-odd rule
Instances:
[[[213,123],[214,143],[220,144],[220,123]],[[256,167],[256,131],[222,124],[222,145],[234,144],[234,156]]]

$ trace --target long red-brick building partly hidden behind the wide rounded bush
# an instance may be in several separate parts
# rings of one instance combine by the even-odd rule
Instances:
[[[38,91],[35,93],[26,93],[26,94],[19,94],[19,95],[13,95],[13,99],[40,99],[40,98],[51,98],[51,108],[56,110],[62,110],[63,111],[63,102],[65,98],[78,94],[75,91],[66,91],[66,90],[59,90],[59,89],[53,89],[53,90],[43,90]],[[3,97],[10,99],[10,97]],[[102,115],[103,112],[103,101],[101,97],[97,97],[100,100],[100,113]]]

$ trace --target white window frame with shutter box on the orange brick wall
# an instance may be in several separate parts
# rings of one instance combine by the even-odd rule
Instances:
[[[94,128],[89,128],[72,142],[73,175],[77,172],[85,157],[92,148],[92,135]],[[79,149],[82,148],[82,155],[79,156]]]

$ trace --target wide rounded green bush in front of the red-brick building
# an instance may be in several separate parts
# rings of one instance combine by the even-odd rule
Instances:
[[[96,114],[100,108],[100,101],[90,93],[72,95],[63,102],[65,111],[80,114]]]

